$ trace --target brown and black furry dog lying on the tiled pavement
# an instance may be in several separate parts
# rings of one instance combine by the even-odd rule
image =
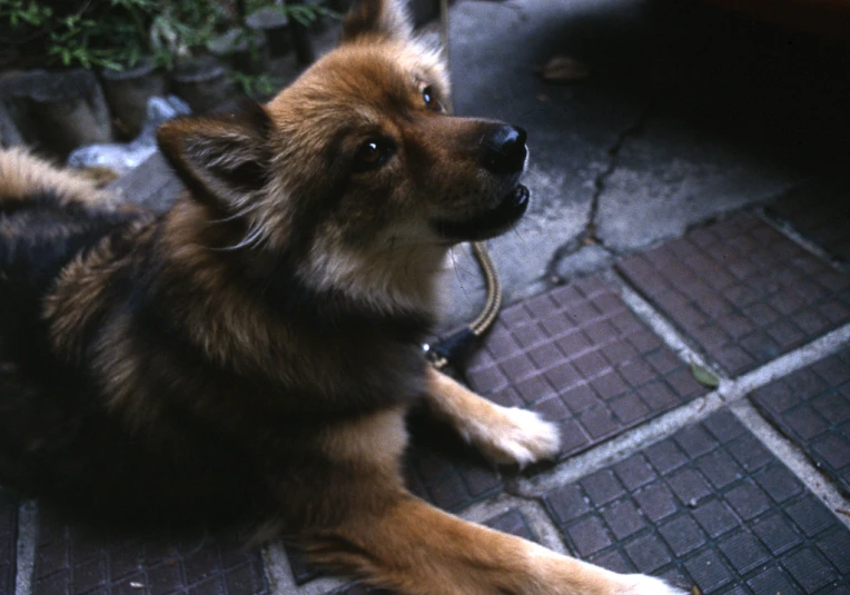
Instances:
[[[556,428],[428,366],[449,248],[528,205],[526,135],[446,113],[393,0],[266,105],[158,132],[188,188],[155,215],[0,155],[0,482],[95,517],[249,510],[403,594],[671,595],[466,523],[404,487],[422,403],[497,464]]]

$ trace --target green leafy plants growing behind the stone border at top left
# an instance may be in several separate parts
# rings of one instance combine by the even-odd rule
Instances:
[[[0,63],[120,70],[150,56],[156,66],[171,68],[206,51],[226,29],[245,31],[240,12],[263,8],[303,24],[338,18],[320,6],[274,0],[0,0]],[[265,86],[249,78],[240,85]]]

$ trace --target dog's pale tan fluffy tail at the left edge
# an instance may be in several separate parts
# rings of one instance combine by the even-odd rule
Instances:
[[[59,169],[24,149],[0,150],[0,209],[51,195],[62,204],[109,205],[112,195],[76,171]]]

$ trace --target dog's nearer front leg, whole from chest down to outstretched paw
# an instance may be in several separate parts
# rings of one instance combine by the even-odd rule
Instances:
[[[305,469],[299,485],[312,485],[313,493],[294,513],[305,525],[303,544],[313,562],[404,595],[678,593],[655,578],[562,556],[414,497],[401,469],[404,414],[404,407],[384,409],[318,430],[314,453],[323,463]],[[293,483],[281,482],[279,489],[293,514]]]

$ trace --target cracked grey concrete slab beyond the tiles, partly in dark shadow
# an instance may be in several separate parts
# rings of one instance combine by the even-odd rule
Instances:
[[[811,177],[847,178],[846,49],[664,1],[467,0],[451,31],[457,112],[528,130],[533,207],[491,242],[506,304]],[[555,54],[590,77],[543,81]],[[483,299],[466,251],[455,268],[447,326]]]

